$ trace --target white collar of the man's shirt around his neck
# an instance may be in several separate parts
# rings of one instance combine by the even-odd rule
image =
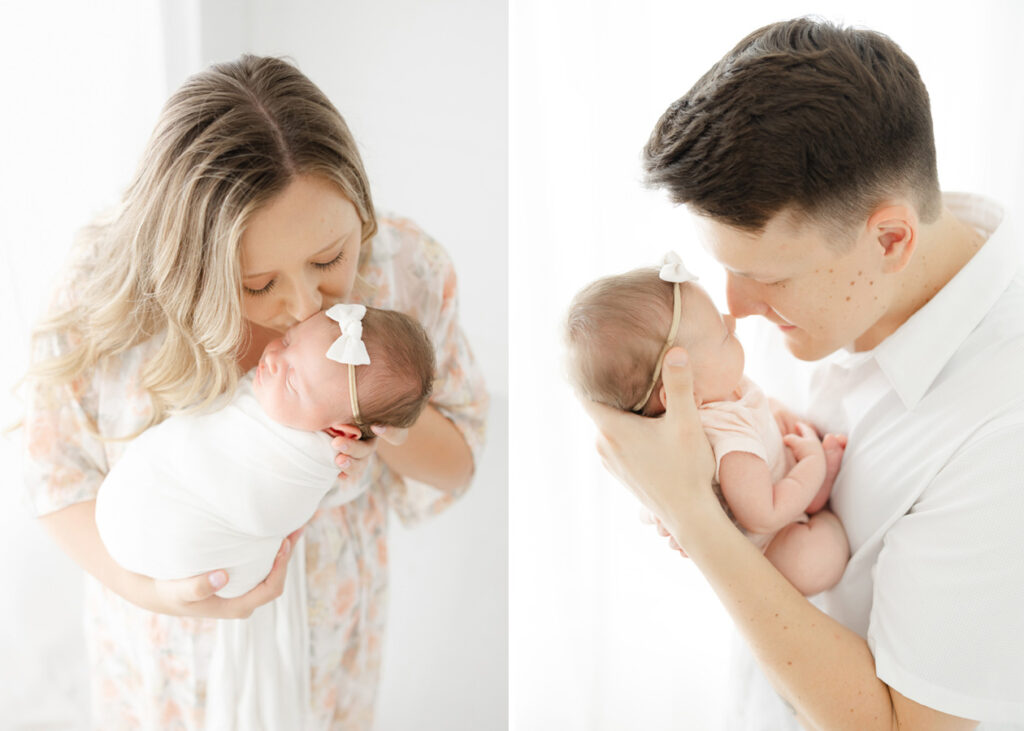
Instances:
[[[924,307],[867,353],[848,353],[846,365],[873,359],[893,389],[912,408],[1010,285],[1020,264],[1017,242],[991,199],[945,193],[944,205],[988,239]],[[840,356],[844,359],[843,356]]]

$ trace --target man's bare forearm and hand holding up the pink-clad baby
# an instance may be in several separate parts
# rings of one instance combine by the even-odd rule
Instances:
[[[601,432],[598,450],[700,569],[802,722],[829,731],[975,728],[879,680],[867,643],[808,602],[735,529],[711,489],[714,461],[682,349],[669,351],[663,373],[669,404],[660,419],[587,404]]]

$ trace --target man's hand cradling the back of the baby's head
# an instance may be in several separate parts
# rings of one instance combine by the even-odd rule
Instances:
[[[597,450],[605,468],[658,516],[685,545],[683,522],[696,502],[714,501],[715,460],[697,417],[686,352],[665,356],[666,413],[656,419],[593,401],[584,406],[597,425]]]

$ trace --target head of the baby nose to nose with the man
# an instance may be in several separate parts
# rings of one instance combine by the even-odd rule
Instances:
[[[569,379],[582,396],[645,416],[665,411],[660,376],[640,401],[669,338],[675,287],[651,267],[598,280],[575,296],[565,340]],[[692,282],[680,284],[679,295],[681,318],[672,345],[689,355],[697,403],[732,398],[743,375],[735,318],[723,316]]]

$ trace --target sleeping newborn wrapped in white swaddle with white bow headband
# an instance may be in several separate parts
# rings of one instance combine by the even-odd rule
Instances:
[[[335,305],[263,350],[231,401],[171,417],[131,442],[96,498],[111,556],[154,578],[218,568],[217,594],[245,594],[269,573],[281,543],[338,482],[327,430],[373,438],[370,426],[412,426],[433,386],[423,328],[400,312]]]

